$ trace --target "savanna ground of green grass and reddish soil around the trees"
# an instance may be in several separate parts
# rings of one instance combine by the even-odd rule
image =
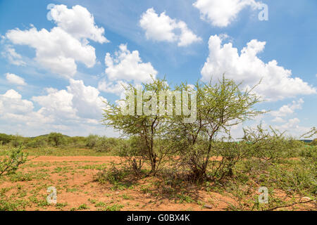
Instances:
[[[2,158],[15,141],[48,140],[14,138],[1,147]],[[292,141],[273,162],[249,158],[228,177],[194,181],[173,167],[177,156],[155,176],[149,165],[135,174],[116,148],[129,140],[60,138],[58,146],[23,148],[26,162],[0,176],[0,210],[316,210],[316,143]],[[49,186],[56,187],[56,204],[46,201]],[[267,204],[259,203],[261,186],[268,188]]]

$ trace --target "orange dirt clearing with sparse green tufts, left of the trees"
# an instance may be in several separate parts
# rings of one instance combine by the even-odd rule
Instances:
[[[18,169],[18,174],[2,179],[2,198],[18,210],[226,210],[237,200],[226,193],[194,189],[193,197],[179,198],[159,193],[156,178],[138,180],[129,188],[113,189],[94,176],[120,158],[94,156],[40,156]],[[49,186],[57,190],[57,204],[49,205]],[[4,200],[4,199],[3,199]],[[206,207],[207,205],[207,207]]]

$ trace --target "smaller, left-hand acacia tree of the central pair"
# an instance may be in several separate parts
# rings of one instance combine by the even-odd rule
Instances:
[[[137,152],[135,152],[135,148],[132,150],[130,162],[133,163],[132,167],[138,165],[141,167],[143,163],[137,164],[135,159],[144,160],[151,166],[150,174],[156,174],[168,155],[168,150],[165,147],[158,146],[158,140],[163,139],[164,124],[166,124],[167,119],[166,115],[159,115],[158,113],[159,94],[160,91],[167,90],[170,90],[170,87],[166,79],[153,79],[151,83],[142,84],[138,87],[125,86],[126,93],[132,93],[132,95],[126,96],[122,101],[125,101],[125,103],[129,101],[130,105],[112,104],[104,109],[104,125],[122,132],[123,136],[138,137],[136,140],[138,140],[139,148]],[[149,93],[151,95],[148,95]],[[129,110],[124,112],[123,108],[126,106],[129,106]],[[143,112],[144,107],[148,110]],[[125,156],[131,155],[126,153]]]

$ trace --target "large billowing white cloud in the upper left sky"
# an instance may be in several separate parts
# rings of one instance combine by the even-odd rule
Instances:
[[[35,60],[39,65],[64,77],[73,77],[77,72],[77,62],[92,68],[96,63],[94,47],[87,39],[108,42],[103,36],[104,29],[94,25],[94,18],[82,6],[68,9],[56,5],[51,9],[51,15],[57,26],[50,31],[9,30],[6,38],[13,44],[27,45],[35,49]],[[85,22],[84,22],[85,21]]]

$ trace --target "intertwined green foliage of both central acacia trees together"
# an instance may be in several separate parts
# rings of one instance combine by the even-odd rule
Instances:
[[[137,97],[138,91],[132,85],[126,90]],[[168,90],[170,86],[165,79],[142,84],[142,91],[153,91],[158,99],[160,91]],[[156,174],[166,158],[177,153],[180,155],[180,165],[176,165],[177,167],[192,170],[194,179],[204,179],[216,134],[220,131],[229,133],[230,127],[263,113],[253,109],[259,102],[259,97],[252,94],[252,90],[241,91],[240,84],[225,77],[216,84],[197,82],[194,88],[194,91],[197,91],[197,120],[192,123],[185,122],[185,115],[137,115],[136,108],[135,115],[124,115],[118,105],[111,105],[104,110],[104,124],[122,131],[126,136],[142,139],[137,148],[139,152],[134,154],[142,157],[138,160],[144,160],[151,165],[152,173]],[[181,84],[176,86],[175,91],[193,90],[187,84]],[[151,98],[144,101],[151,101]],[[192,103],[189,103],[188,107],[194,110]],[[169,140],[178,141],[170,143]],[[125,150],[128,158],[131,158],[130,152],[130,148]],[[137,166],[135,158],[132,158],[131,162],[134,167]],[[231,162],[228,165],[230,164]]]

